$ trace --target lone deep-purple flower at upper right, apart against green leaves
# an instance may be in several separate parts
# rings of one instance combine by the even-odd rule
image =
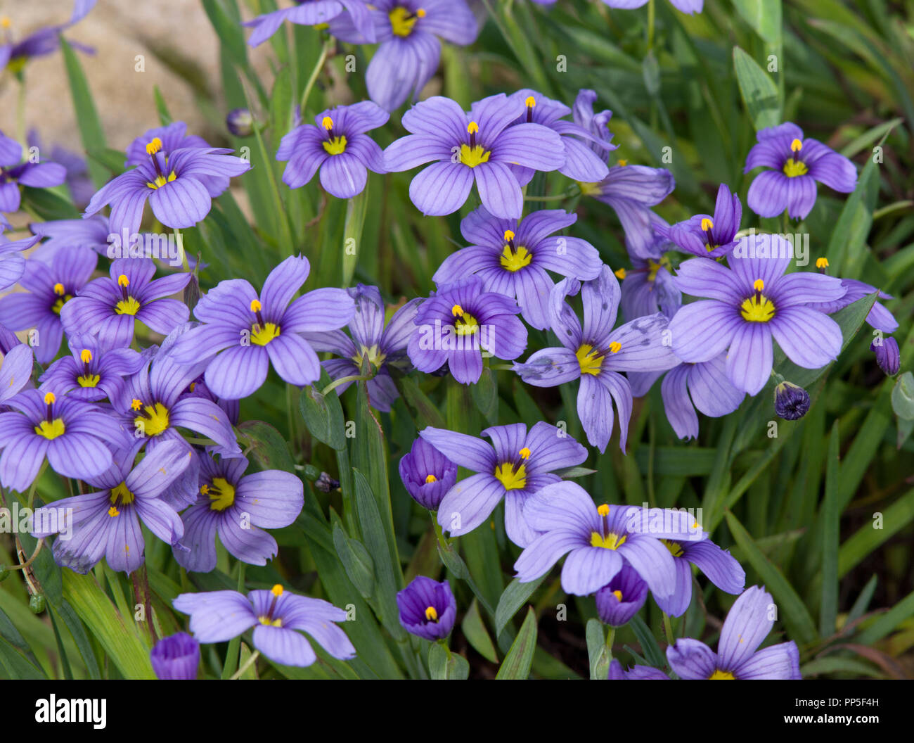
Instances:
[[[815,204],[816,181],[842,193],[856,188],[854,163],[815,139],[804,139],[796,124],[762,129],[757,139],[743,173],[755,167],[772,168],[749,186],[746,201],[760,217],[777,217],[786,209],[791,219],[805,219]]]

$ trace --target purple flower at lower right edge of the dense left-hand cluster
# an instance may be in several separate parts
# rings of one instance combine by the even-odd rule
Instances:
[[[248,460],[243,457],[201,457],[199,462],[197,502],[181,514],[178,565],[196,573],[213,570],[217,533],[231,555],[249,565],[266,565],[278,547],[263,529],[282,529],[295,521],[304,503],[302,480],[279,469],[245,476]]]

